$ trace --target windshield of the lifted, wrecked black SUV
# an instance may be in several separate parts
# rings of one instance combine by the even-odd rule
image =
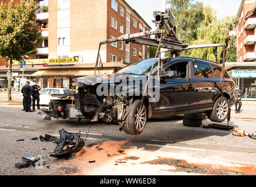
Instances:
[[[153,61],[154,58],[150,58],[147,60],[132,63],[127,67],[124,67],[122,70],[118,71],[117,74],[149,75]],[[157,71],[158,61],[159,59],[157,58],[156,62],[154,63],[152,74],[154,74]],[[165,64],[166,62],[167,60],[163,60],[163,64]]]

